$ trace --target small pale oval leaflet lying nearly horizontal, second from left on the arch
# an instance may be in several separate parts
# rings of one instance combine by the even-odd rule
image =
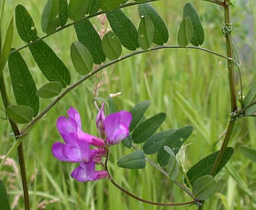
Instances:
[[[52,81],[40,87],[36,94],[40,98],[53,98],[60,95],[61,90],[62,85],[57,81]]]

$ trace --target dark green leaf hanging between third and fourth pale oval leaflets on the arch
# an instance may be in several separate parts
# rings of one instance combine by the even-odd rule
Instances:
[[[91,53],[93,62],[101,64],[106,59],[102,50],[102,41],[93,24],[89,20],[78,22],[75,26],[77,39],[81,42]]]

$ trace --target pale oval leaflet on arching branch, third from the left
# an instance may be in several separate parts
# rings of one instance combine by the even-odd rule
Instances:
[[[78,74],[86,75],[91,72],[93,69],[93,58],[82,43],[74,41],[70,47],[70,54]]]

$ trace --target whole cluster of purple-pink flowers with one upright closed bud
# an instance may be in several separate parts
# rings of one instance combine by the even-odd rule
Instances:
[[[60,161],[79,163],[79,167],[71,173],[71,177],[79,182],[104,179],[108,177],[108,172],[95,171],[96,164],[106,156],[106,147],[121,142],[129,135],[131,119],[131,113],[125,111],[105,117],[102,104],[96,116],[96,127],[101,137],[98,138],[81,130],[81,117],[77,110],[70,108],[68,117],[58,117],[57,128],[65,143],[53,144],[53,156]]]

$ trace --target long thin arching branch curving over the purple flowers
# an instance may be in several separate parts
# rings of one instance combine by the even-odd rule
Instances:
[[[22,131],[21,131],[21,135],[25,135],[26,132],[33,126],[35,125],[35,123],[37,123],[37,121],[39,121],[39,119],[41,119],[43,116],[45,116],[45,114],[47,114],[47,112],[49,110],[51,110],[51,108],[53,108],[53,106],[55,104],[58,103],[58,101],[60,99],[62,99],[65,95],[67,95],[70,91],[72,91],[73,89],[75,89],[75,87],[77,87],[78,85],[80,85],[81,83],[83,83],[84,81],[86,81],[87,79],[89,79],[91,76],[95,75],[96,73],[100,72],[100,70],[108,67],[108,66],[111,66],[113,64],[116,64],[117,62],[120,62],[121,60],[125,60],[127,58],[130,58],[131,56],[135,56],[136,54],[141,54],[141,53],[147,53],[147,52],[150,52],[150,51],[156,51],[156,50],[160,50],[160,49],[197,49],[197,50],[200,50],[200,51],[205,51],[207,53],[211,53],[211,54],[215,54],[216,56],[219,56],[221,58],[225,58],[227,60],[232,60],[232,58],[229,58],[228,56],[224,56],[223,54],[220,54],[220,53],[215,53],[214,51],[210,51],[208,49],[204,49],[202,47],[179,47],[179,46],[173,46],[173,45],[162,45],[162,46],[157,46],[157,47],[152,47],[151,49],[148,49],[148,50],[140,50],[140,51],[135,51],[133,53],[129,53],[125,56],[122,56],[120,58],[117,58],[116,60],[112,60],[106,64],[102,64],[102,66],[99,66],[98,68],[95,68],[95,70],[91,71],[89,74],[85,75],[84,77],[82,77],[81,79],[79,79],[78,81],[76,81],[73,85],[70,85],[70,87],[68,87],[66,90],[64,90],[60,96],[58,96],[57,98],[55,98],[53,100],[53,102],[51,102],[37,117],[35,117],[30,125],[28,125],[26,128],[24,128]]]

